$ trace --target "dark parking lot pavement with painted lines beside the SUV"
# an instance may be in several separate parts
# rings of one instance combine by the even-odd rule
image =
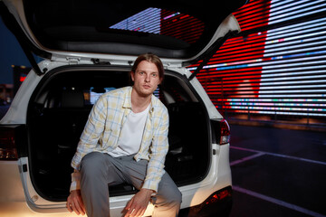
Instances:
[[[231,126],[231,217],[326,216],[326,133]]]

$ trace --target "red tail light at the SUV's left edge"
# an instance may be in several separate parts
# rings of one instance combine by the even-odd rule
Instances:
[[[24,135],[21,134],[21,126],[0,127],[0,160],[17,160],[17,146],[22,144]]]

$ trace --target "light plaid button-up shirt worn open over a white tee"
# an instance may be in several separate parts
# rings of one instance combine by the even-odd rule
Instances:
[[[82,157],[91,152],[109,153],[118,146],[121,128],[131,111],[132,87],[104,93],[91,109],[82,132],[72,167],[79,170]],[[164,162],[168,152],[168,109],[154,95],[143,132],[136,161],[149,160],[143,188],[158,192],[158,183],[164,175]],[[79,173],[72,174],[71,191],[80,187]]]

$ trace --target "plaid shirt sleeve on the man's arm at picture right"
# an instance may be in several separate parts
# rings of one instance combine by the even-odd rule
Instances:
[[[149,165],[143,188],[158,192],[158,184],[164,175],[165,157],[168,153],[168,110],[164,107],[158,115],[158,127],[154,126],[152,145],[149,151]]]

